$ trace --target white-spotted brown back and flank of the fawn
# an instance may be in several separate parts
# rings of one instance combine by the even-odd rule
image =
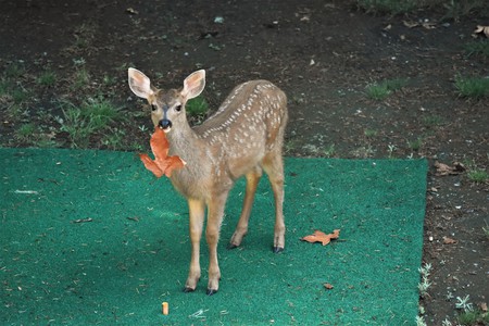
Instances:
[[[252,80],[237,86],[195,130],[213,153],[215,168],[236,178],[281,148],[287,116],[286,95],[267,80]]]

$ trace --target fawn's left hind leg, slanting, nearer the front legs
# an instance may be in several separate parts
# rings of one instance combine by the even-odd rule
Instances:
[[[244,200],[242,203],[241,215],[239,216],[238,225],[229,241],[229,249],[237,248],[241,244],[242,239],[248,233],[248,222],[250,221],[251,208],[253,205],[254,193],[256,192],[258,184],[262,177],[262,168],[260,166],[254,167],[252,171],[246,174],[247,188],[244,191]]]

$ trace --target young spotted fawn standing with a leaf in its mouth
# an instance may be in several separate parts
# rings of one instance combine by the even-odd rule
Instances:
[[[201,277],[200,242],[206,211],[205,239],[209,247],[206,294],[218,291],[221,269],[217,242],[228,193],[244,176],[241,214],[228,248],[238,248],[248,233],[256,186],[263,172],[268,176],[275,201],[273,252],[285,248],[283,143],[288,120],[287,97],[267,80],[238,85],[217,111],[202,124],[191,127],[185,105],[205,87],[205,71],[184,79],[178,89],[158,89],[136,68],[128,70],[130,90],[151,106],[154,128],[161,128],[170,143],[170,155],[185,160],[172,172],[173,187],[186,198],[189,210],[191,258],[184,291],[195,291]]]

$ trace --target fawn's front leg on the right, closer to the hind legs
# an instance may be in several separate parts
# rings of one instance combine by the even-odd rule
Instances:
[[[208,294],[212,296],[220,289],[221,269],[217,262],[217,242],[220,241],[221,224],[224,216],[227,192],[214,197],[208,204],[208,226],[205,238],[209,246],[209,284]]]

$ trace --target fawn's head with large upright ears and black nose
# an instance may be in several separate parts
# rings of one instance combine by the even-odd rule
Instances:
[[[198,97],[205,87],[205,71],[200,70],[190,74],[184,80],[180,89],[163,90],[151,85],[150,78],[138,70],[129,68],[129,87],[133,92],[148,100],[151,105],[151,120],[165,133],[172,126],[187,123],[185,104],[189,99]]]

